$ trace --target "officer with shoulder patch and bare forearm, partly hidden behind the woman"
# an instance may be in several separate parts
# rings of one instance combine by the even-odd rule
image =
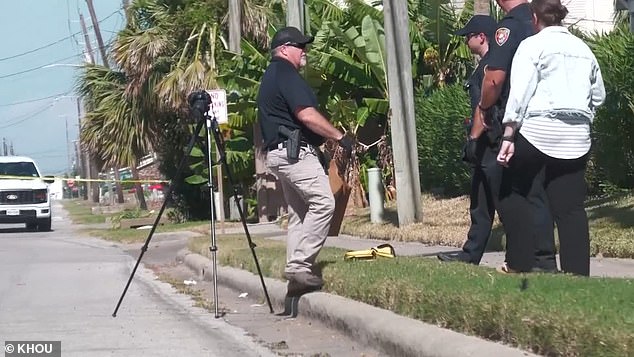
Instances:
[[[476,142],[482,135],[500,140],[501,120],[510,89],[510,80],[507,77],[511,73],[513,56],[520,42],[532,36],[535,31],[532,24],[533,15],[526,0],[496,0],[496,2],[506,12],[506,16],[498,24],[491,41],[488,69],[482,81],[480,102],[474,112],[469,143]],[[505,191],[509,190],[511,182],[509,174],[508,170],[503,171],[500,199],[506,194]],[[556,271],[554,225],[548,209],[546,193],[544,190],[535,190],[528,200],[535,207],[535,212],[539,212],[532,217],[535,220],[533,235],[536,247],[534,252],[523,251],[521,254],[535,254],[534,270]],[[510,217],[516,214],[513,207],[498,207],[498,212],[503,224],[507,224]],[[505,230],[508,232],[507,229]],[[512,244],[514,244],[513,240],[507,239],[507,260],[513,259],[508,252],[517,252],[517,249],[510,247]],[[506,265],[502,266],[500,271],[510,272]]]

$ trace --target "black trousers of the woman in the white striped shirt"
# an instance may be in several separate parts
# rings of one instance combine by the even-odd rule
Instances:
[[[517,271],[530,271],[534,266],[528,252],[540,249],[539,235],[533,222],[543,216],[544,207],[530,197],[545,191],[547,212],[557,225],[561,268],[565,272],[590,274],[590,237],[584,201],[584,171],[587,155],[566,160],[549,157],[537,150],[522,135],[515,142],[514,157],[505,170],[500,192],[500,209],[507,234],[507,262]]]

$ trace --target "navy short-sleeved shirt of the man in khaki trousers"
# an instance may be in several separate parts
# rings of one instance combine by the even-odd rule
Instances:
[[[262,76],[257,98],[258,120],[264,147],[286,140],[278,133],[280,125],[291,130],[301,129],[302,140],[319,146],[320,135],[313,133],[295,117],[299,107],[317,108],[317,97],[295,67],[285,59],[273,57]]]

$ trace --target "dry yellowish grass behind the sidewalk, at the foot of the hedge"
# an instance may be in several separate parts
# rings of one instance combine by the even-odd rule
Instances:
[[[452,199],[423,195],[423,222],[398,227],[394,203],[385,208],[385,223],[370,222],[369,209],[344,219],[341,232],[371,239],[421,242],[461,247],[469,230],[469,197]],[[593,256],[634,258],[634,193],[593,198],[586,202]],[[504,245],[504,230],[496,219],[490,241]]]

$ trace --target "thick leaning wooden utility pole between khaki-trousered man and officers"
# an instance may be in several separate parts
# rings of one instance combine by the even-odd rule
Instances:
[[[423,219],[416,124],[414,122],[414,90],[410,53],[407,1],[383,1],[385,41],[387,49],[390,123],[394,150],[396,207],[399,226]]]

